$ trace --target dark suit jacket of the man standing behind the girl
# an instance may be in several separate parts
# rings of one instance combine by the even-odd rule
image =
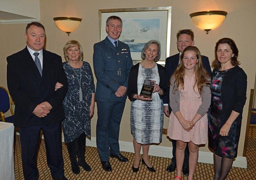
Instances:
[[[170,84],[170,78],[173,75],[174,71],[176,70],[176,68],[178,67],[179,64],[179,59],[180,59],[180,53],[175,54],[173,56],[167,57],[165,60],[165,70],[167,73],[167,81],[168,84]],[[210,66],[210,62],[208,57],[202,55],[202,63],[204,65],[204,68],[207,70],[207,72],[210,74],[211,76],[211,66]],[[164,104],[169,104],[170,99],[169,99],[169,91],[168,90],[167,94],[165,95],[165,97],[163,97],[163,103]],[[171,112],[169,112],[171,113]]]

